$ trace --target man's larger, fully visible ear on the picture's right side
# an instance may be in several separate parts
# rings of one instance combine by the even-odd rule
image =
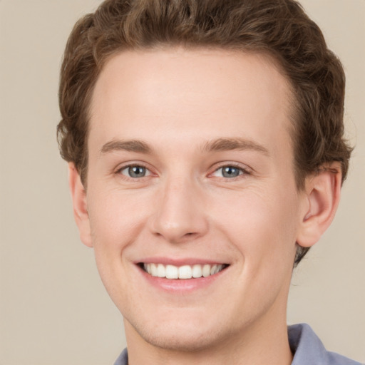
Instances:
[[[297,244],[311,247],[331,225],[339,205],[341,193],[341,166],[339,163],[323,166],[319,173],[305,183],[305,209],[299,227]]]

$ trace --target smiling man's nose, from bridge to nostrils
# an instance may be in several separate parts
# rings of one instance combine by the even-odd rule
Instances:
[[[208,230],[202,187],[187,178],[170,179],[161,191],[152,217],[153,234],[171,243],[190,242]]]

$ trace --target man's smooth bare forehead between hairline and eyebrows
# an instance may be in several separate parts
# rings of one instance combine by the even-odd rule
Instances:
[[[242,133],[264,141],[274,128],[289,142],[290,96],[289,82],[266,55],[205,48],[124,51],[110,58],[96,82],[90,147],[158,138],[163,130],[173,132],[169,140]]]

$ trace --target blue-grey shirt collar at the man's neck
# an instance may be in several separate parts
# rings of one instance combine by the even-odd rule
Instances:
[[[324,349],[322,341],[308,324],[289,326],[288,335],[294,354],[292,365],[365,365]],[[127,349],[124,349],[114,365],[128,365]]]

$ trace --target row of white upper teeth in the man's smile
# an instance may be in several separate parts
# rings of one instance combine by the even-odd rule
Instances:
[[[183,265],[180,267],[163,264],[143,264],[143,269],[153,277],[165,277],[166,279],[191,279],[199,277],[209,277],[222,271],[222,264],[195,264]]]

